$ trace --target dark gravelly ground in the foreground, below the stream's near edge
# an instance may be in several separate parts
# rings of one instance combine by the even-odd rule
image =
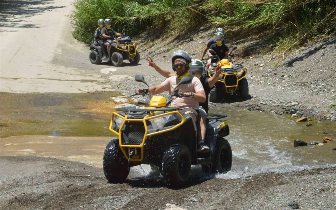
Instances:
[[[112,184],[100,168],[83,163],[2,156],[1,209],[336,208],[335,167],[238,179],[193,171],[187,186],[173,189],[155,174]]]

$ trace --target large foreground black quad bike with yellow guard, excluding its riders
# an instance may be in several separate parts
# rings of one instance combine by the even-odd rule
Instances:
[[[147,85],[142,75],[136,75],[135,80]],[[205,143],[210,152],[201,154],[193,118],[179,112],[178,107],[168,106],[176,97],[192,97],[176,89],[190,82],[190,77],[183,77],[168,101],[162,96],[151,97],[149,89],[143,89],[141,94],[150,96],[150,107],[118,108],[119,112],[113,112],[109,129],[118,138],[106,146],[103,157],[103,170],[109,182],[125,181],[130,167],[140,164],[157,167],[165,183],[173,187],[188,181],[191,165],[201,164],[205,172],[225,173],[231,169],[232,151],[224,139],[229,135],[229,127],[226,120],[220,120],[226,116],[207,117]]]

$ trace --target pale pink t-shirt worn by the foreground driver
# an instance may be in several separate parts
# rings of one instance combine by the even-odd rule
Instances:
[[[203,86],[201,81],[193,76],[189,76],[192,81],[191,83],[188,84],[183,84],[178,86],[178,92],[193,92],[193,93],[198,93],[200,91],[204,91]],[[161,85],[164,87],[166,91],[169,91],[169,93],[172,93],[174,90],[174,87],[180,82],[179,79],[177,79],[176,76],[169,77],[167,78]],[[193,109],[198,109],[198,102],[192,98],[192,97],[180,97],[180,98],[175,98],[171,102],[171,106],[173,107],[179,107],[180,109],[185,109],[185,108],[193,108]]]

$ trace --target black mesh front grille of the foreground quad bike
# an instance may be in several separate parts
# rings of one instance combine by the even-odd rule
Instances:
[[[142,122],[129,122],[125,124],[125,130],[122,135],[123,144],[141,145],[145,128]]]

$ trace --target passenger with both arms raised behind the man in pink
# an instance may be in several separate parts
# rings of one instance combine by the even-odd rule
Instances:
[[[157,66],[151,57],[145,58],[145,59],[149,61],[148,65],[153,67],[162,76],[166,78],[175,76],[173,73],[169,72],[168,70],[162,69],[161,67]],[[194,75],[195,77],[200,79],[204,92],[205,92],[205,97],[206,97],[205,102],[199,102],[201,135],[202,135],[202,139],[204,140],[205,134],[206,134],[205,121],[206,121],[207,113],[209,111],[208,96],[209,96],[210,90],[214,87],[217,80],[219,79],[220,72],[221,72],[220,65],[217,66],[216,72],[213,75],[213,77],[209,78],[207,71],[204,70],[203,62],[198,59],[192,59],[189,72],[191,75]]]

